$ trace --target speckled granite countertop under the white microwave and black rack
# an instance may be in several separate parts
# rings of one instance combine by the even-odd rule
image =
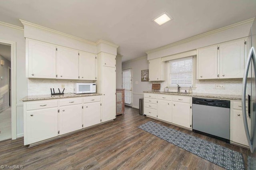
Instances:
[[[69,97],[86,97],[86,96],[97,96],[97,95],[102,95],[102,94],[101,93],[86,93],[86,94],[68,93],[64,95],[33,95],[33,96],[26,96],[23,99],[20,99],[20,101],[62,99],[62,98],[69,98]]]

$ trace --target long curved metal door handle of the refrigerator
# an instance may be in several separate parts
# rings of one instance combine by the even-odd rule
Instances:
[[[256,69],[256,55],[255,55],[255,51],[254,51],[254,47],[252,47],[249,51],[249,55],[246,61],[246,67],[244,70],[244,78],[243,78],[243,86],[242,86],[242,113],[243,113],[243,121],[244,121],[244,129],[245,129],[245,133],[246,133],[246,138],[250,147],[251,152],[253,152],[252,150],[252,140],[250,138],[250,134],[249,134],[249,129],[248,129],[248,123],[247,123],[247,118],[246,118],[246,105],[245,105],[245,101],[246,101],[246,83],[247,83],[247,76],[248,76],[248,71],[249,71],[249,67],[250,67],[250,61],[252,60],[252,63],[254,65],[254,69]],[[254,73],[256,72],[256,70],[254,70]]]

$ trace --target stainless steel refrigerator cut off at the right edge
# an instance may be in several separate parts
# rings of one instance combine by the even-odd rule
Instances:
[[[256,18],[250,29],[247,43],[250,51],[243,78],[242,113],[246,138],[251,152],[248,157],[248,169],[256,170]],[[248,111],[246,111],[246,102],[248,102]]]

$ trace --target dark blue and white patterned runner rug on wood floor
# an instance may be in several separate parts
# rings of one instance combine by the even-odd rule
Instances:
[[[147,122],[138,128],[183,148],[228,170],[244,170],[244,158],[240,152],[230,150],[218,144],[202,140],[189,134]]]

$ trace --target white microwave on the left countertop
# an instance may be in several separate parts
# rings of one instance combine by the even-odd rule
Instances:
[[[74,93],[96,93],[95,83],[75,83]]]

